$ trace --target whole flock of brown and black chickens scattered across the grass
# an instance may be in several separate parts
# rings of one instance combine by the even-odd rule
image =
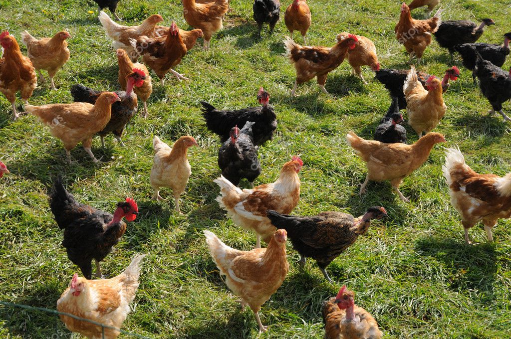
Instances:
[[[143,116],[149,114],[147,101],[152,92],[152,80],[147,67],[164,82],[171,72],[179,81],[188,78],[175,68],[181,59],[203,37],[204,48],[210,47],[212,35],[222,28],[223,17],[229,9],[228,0],[213,2],[183,0],[183,14],[194,29],[184,31],[172,22],[170,27],[157,24],[163,21],[160,15],[151,15],[139,26],[121,26],[114,22],[102,8],[108,7],[115,14],[119,0],[95,0],[99,5],[99,19],[112,45],[117,50],[119,84],[123,91],[103,92],[76,84],[71,88],[74,103],[31,106],[28,100],[37,85],[35,71],[41,81],[41,70],[48,71],[52,88],[54,77],[69,59],[66,39],[70,35],[57,33],[53,38],[36,39],[27,31],[21,33],[27,46],[28,57],[22,55],[16,39],[3,32],[0,43],[4,48],[0,60],[0,91],[12,103],[13,118],[16,111],[15,94],[21,93],[26,110],[37,116],[50,128],[53,136],[62,140],[67,160],[72,161],[71,150],[82,142],[94,162],[100,162],[91,152],[92,138],[112,133],[121,146],[124,127],[138,110],[138,100],[143,102]],[[511,99],[511,77],[503,71],[506,55],[509,54],[511,33],[504,36],[503,45],[476,43],[484,27],[494,25],[492,19],[484,19],[478,26],[468,20],[440,21],[442,10],[427,20],[416,20],[410,10],[428,6],[432,9],[438,0],[414,0],[410,6],[403,4],[396,38],[410,56],[421,62],[426,47],[435,36],[439,45],[451,53],[457,52],[463,65],[472,70],[474,81],[479,79],[482,94],[492,105],[492,113],[498,111],[504,121],[510,118],[502,111],[502,103]],[[263,24],[269,23],[273,31],[280,18],[278,0],[255,0],[254,19],[258,23],[259,36]],[[376,79],[390,93],[392,102],[381,125],[375,131],[375,140],[365,140],[355,133],[346,135],[347,143],[356,151],[367,166],[367,177],[360,188],[365,191],[369,180],[389,180],[403,201],[408,201],[399,190],[403,179],[419,168],[429,156],[436,143],[445,142],[442,134],[431,132],[446,114],[443,93],[449,81],[459,77],[456,66],[449,68],[440,81],[433,75],[411,69],[382,69],[373,42],[363,36],[349,33],[337,35],[332,47],[302,46],[293,41],[293,32],[298,31],[307,43],[307,31],[311,25],[311,12],[305,0],[293,0],[285,12],[285,23],[291,37],[284,41],[287,55],[296,68],[297,85],[317,78],[323,92],[328,74],[345,58],[353,67],[353,74],[362,77],[361,67],[369,66],[376,72]],[[143,63],[138,63],[142,58]],[[146,67],[147,66],[147,67]],[[269,105],[270,95],[263,88],[257,93],[261,106],[240,110],[218,110],[202,102],[203,116],[207,128],[220,136],[222,146],[218,152],[218,164],[222,171],[215,180],[220,187],[218,204],[227,211],[233,222],[252,230],[257,235],[256,248],[240,251],[225,245],[210,231],[204,231],[206,243],[220,273],[225,276],[227,286],[241,297],[242,307],[248,305],[255,314],[260,332],[266,331],[259,317],[261,306],[281,286],[288,271],[286,241],[300,254],[300,264],[306,258],[316,260],[324,277],[331,281],[326,268],[344,250],[355,243],[359,235],[367,232],[371,220],[387,216],[385,208],[370,207],[359,216],[322,212],[315,216],[289,215],[297,205],[300,195],[298,173],[303,161],[294,156],[286,162],[280,176],[273,183],[253,187],[253,181],[262,168],[258,159],[258,148],[271,140],[277,128],[277,116]],[[406,109],[408,124],[419,135],[413,144],[406,143],[403,115]],[[431,133],[430,133],[431,132]],[[191,136],[182,136],[169,147],[157,136],[153,140],[155,151],[150,181],[154,189],[153,198],[161,199],[159,190],[169,187],[173,191],[175,210],[180,213],[179,198],[191,175],[187,158],[190,147],[198,146]],[[462,217],[465,240],[470,243],[468,230],[479,221],[484,224],[487,237],[492,238],[492,228],[498,219],[511,216],[511,173],[505,177],[492,174],[477,174],[465,163],[461,152],[452,148],[447,151],[442,167],[450,187],[451,202]],[[0,162],[0,177],[9,174],[7,166]],[[246,179],[251,188],[238,187]],[[96,276],[102,278],[100,262],[118,243],[126,231],[125,219],[133,222],[138,214],[135,201],[128,198],[119,202],[113,214],[79,203],[69,193],[59,177],[56,177],[49,192],[50,207],[58,226],[64,230],[62,246],[69,260],[78,265],[84,278],[73,276],[69,287],[57,302],[57,309],[75,316],[90,319],[114,328],[120,328],[129,312],[129,304],[135,296],[140,276],[140,263],[145,255],[136,255],[121,275],[111,279],[92,278],[92,260],[96,263]],[[267,248],[261,248],[261,238]],[[323,318],[327,338],[382,337],[378,324],[363,308],[354,303],[354,292],[341,288],[335,298],[323,304]],[[66,327],[89,338],[101,337],[102,329],[91,323],[61,316]],[[107,328],[107,338],[115,338],[118,330]]]

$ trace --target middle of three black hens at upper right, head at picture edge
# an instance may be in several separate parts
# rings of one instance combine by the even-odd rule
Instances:
[[[472,78],[476,81],[474,68],[476,66],[476,53],[477,51],[484,60],[490,61],[495,66],[502,67],[509,55],[509,41],[511,41],[511,32],[504,34],[504,44],[497,45],[493,43],[464,43],[454,46],[456,52],[459,53],[463,59],[463,66],[472,71]]]

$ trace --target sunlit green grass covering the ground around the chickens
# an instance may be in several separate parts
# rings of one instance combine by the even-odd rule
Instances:
[[[382,67],[408,67],[404,48],[393,34],[400,2],[311,0],[309,5],[310,43],[332,45],[342,31],[361,34],[375,42]],[[445,0],[442,6],[445,19],[493,18],[497,25],[487,28],[480,41],[501,43],[510,30],[511,7],[506,0]],[[312,261],[305,271],[299,270],[298,255],[289,245],[291,271],[263,305],[263,323],[271,326],[261,337],[322,338],[321,301],[335,295],[342,284],[357,292],[356,303],[374,315],[388,338],[511,336],[511,223],[499,222],[494,244],[485,244],[478,225],[471,230],[478,244],[464,246],[460,219],[440,169],[444,147],[458,144],[476,171],[499,175],[511,171],[509,123],[486,115],[490,106],[460,60],[455,63],[462,78],[445,94],[448,111],[436,128],[448,142],[437,145],[429,160],[405,179],[401,190],[411,203],[400,201],[388,183],[370,183],[359,198],[357,185],[366,169],[344,136],[353,130],[371,137],[390,103],[386,90],[377,82],[363,86],[343,63],[327,81],[331,94],[320,93],[311,81],[291,98],[295,71],[283,56],[282,40],[288,35],[283,18],[273,36],[265,28],[258,40],[250,1],[233,0],[231,8],[211,50],[196,46],[177,66],[192,81],[169,79],[164,87],[154,81],[150,116],[132,120],[123,138],[126,148],[107,137],[107,148],[101,149],[95,139],[92,151],[106,161],[100,166],[93,165],[81,147],[72,151],[79,162],[67,165],[61,141],[33,116],[11,122],[10,104],[0,95],[0,158],[11,171],[0,180],[0,300],[55,308],[78,270],[60,246],[62,231],[47,200],[51,176],[63,173],[81,202],[112,211],[116,202],[130,196],[140,206],[141,214],[103,264],[114,276],[135,253],[150,253],[143,263],[135,310],[124,329],[155,338],[257,336],[252,312],[240,312],[202,235],[202,230],[211,230],[238,249],[249,250],[255,244],[254,235],[234,225],[214,200],[219,191],[213,183],[220,174],[219,142],[205,128],[199,101],[225,108],[253,106],[257,89],[264,86],[279,125],[273,141],[260,150],[263,173],[256,183],[274,181],[282,164],[299,154],[305,166],[299,174],[301,199],[293,213],[340,210],[360,215],[368,206],[382,205],[390,217],[375,223],[367,236],[327,268],[334,284],[323,279]],[[77,82],[97,89],[119,88],[117,58],[91,1],[1,0],[0,10],[0,26],[18,40],[24,29],[36,37],[53,36],[62,29],[73,36],[71,60],[55,78],[59,90],[39,84],[31,104],[71,102],[69,87]],[[424,11],[416,10],[414,16],[422,17]],[[118,13],[129,25],[160,13],[166,26],[176,20],[180,27],[188,27],[177,0],[121,0]],[[419,69],[438,76],[451,66],[447,51],[435,41],[423,59]],[[510,65],[508,61],[504,68]],[[373,77],[369,70],[364,76]],[[504,110],[510,109],[504,105]],[[410,141],[415,141],[416,135],[407,130]],[[177,216],[169,190],[162,191],[167,202],[150,200],[151,140],[158,135],[173,142],[184,134],[196,137],[200,148],[189,152],[193,173],[181,199],[188,214]],[[71,337],[60,320],[40,312],[0,308],[0,324],[2,337]]]

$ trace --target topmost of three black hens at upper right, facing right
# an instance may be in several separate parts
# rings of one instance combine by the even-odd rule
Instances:
[[[482,19],[481,25],[477,26],[475,22],[470,20],[447,20],[442,21],[436,30],[435,39],[440,47],[454,53],[454,46],[462,43],[474,43],[484,32],[485,26],[495,25],[492,19]]]

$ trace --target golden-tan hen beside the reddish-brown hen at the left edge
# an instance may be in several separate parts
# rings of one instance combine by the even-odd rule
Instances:
[[[41,69],[47,70],[52,88],[56,89],[53,78],[60,67],[69,60],[71,53],[69,53],[65,40],[71,38],[71,35],[66,31],[61,31],[55,34],[53,38],[37,40],[29,32],[23,31],[21,32],[21,37],[21,41],[27,46],[27,55],[39,73],[39,80],[41,82],[45,81]]]

